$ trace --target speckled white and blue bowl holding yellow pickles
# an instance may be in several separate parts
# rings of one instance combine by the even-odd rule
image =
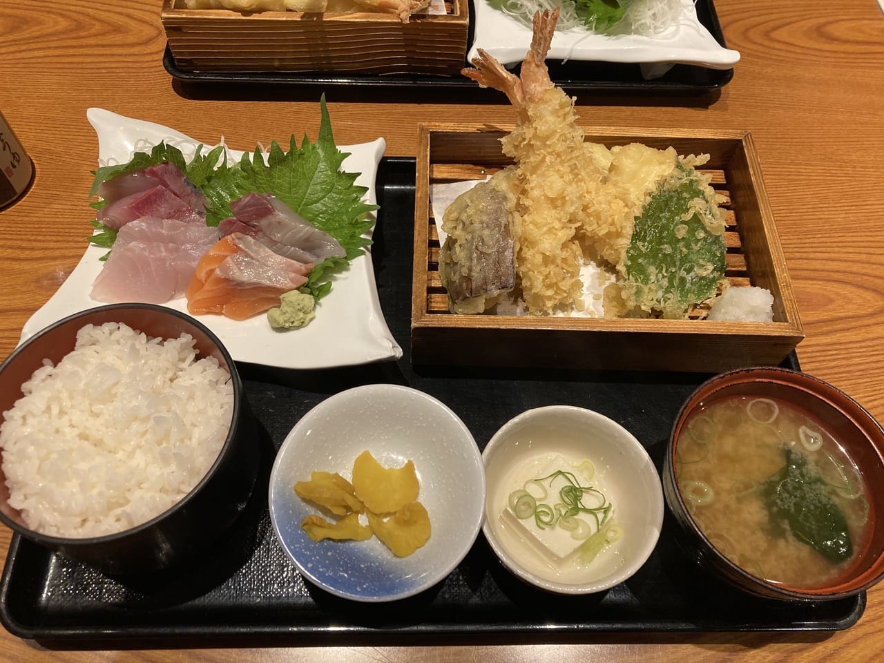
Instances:
[[[408,557],[395,557],[377,537],[316,542],[301,530],[319,510],[294,484],[320,470],[350,479],[365,450],[385,467],[415,462],[431,534]],[[444,579],[476,541],[484,501],[482,457],[469,429],[439,400],[401,385],[355,387],[321,402],[289,432],[271,472],[273,530],[301,575],[363,602],[406,598]]]

